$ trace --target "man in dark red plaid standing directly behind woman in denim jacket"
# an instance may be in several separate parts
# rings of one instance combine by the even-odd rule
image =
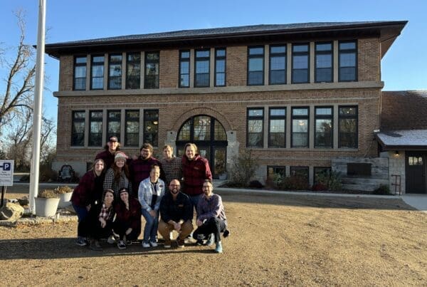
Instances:
[[[164,181],[162,164],[157,160],[157,158],[152,157],[152,155],[153,146],[149,143],[144,143],[144,145],[139,149],[139,157],[137,157],[136,160],[130,161],[129,172],[132,181],[133,194],[138,194],[139,183],[149,177],[152,165],[159,165],[160,179]]]

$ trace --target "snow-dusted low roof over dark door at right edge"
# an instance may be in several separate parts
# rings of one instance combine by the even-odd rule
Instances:
[[[427,130],[389,130],[375,137],[383,150],[427,150]]]

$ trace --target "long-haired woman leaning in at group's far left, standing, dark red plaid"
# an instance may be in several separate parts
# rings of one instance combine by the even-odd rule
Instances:
[[[93,163],[92,168],[83,175],[82,179],[75,187],[71,196],[71,203],[78,217],[78,224],[88,216],[90,207],[102,201],[102,184],[104,184],[105,163],[98,159]],[[85,237],[77,234],[77,245],[88,244]]]

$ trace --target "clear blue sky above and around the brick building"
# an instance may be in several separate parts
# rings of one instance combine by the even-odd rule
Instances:
[[[0,0],[0,42],[19,41],[14,11],[26,14],[26,42],[36,44],[38,0]],[[427,89],[427,1],[252,1],[252,0],[46,0],[46,43],[130,34],[217,28],[253,24],[290,24],[318,21],[407,20],[381,61],[384,90]],[[46,56],[48,81],[43,107],[56,120],[59,63]],[[3,68],[0,70],[4,78]],[[0,82],[0,91],[4,82]]]

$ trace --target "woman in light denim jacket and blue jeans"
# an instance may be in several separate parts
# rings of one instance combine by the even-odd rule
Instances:
[[[159,226],[160,200],[164,196],[164,182],[159,179],[160,166],[152,165],[149,177],[139,184],[138,198],[142,216],[146,221],[142,247],[157,246],[157,227]]]

